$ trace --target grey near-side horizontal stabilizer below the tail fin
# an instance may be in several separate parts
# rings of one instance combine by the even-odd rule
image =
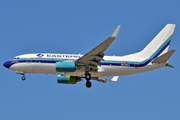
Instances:
[[[175,51],[176,50],[174,49],[159,56],[158,58],[154,59],[152,63],[166,63]]]

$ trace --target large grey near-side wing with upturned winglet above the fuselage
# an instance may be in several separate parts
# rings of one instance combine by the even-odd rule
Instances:
[[[120,29],[120,25],[116,28],[113,34],[107,38],[104,42],[99,44],[97,47],[86,53],[84,56],[76,60],[77,66],[86,66],[93,70],[97,70],[97,66],[103,60],[104,51],[109,47],[109,45],[114,41]]]

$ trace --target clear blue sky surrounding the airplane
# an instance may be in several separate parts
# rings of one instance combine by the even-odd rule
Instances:
[[[179,0],[0,1],[1,120],[179,120]],[[85,54],[119,34],[105,55],[142,50],[168,23],[172,68],[120,76],[115,83],[57,84],[56,75],[21,75],[3,63],[26,53]]]

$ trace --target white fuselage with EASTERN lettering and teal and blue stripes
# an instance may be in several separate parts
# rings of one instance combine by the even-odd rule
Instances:
[[[75,54],[25,54],[16,56],[10,60],[9,69],[22,73],[38,74],[61,74],[84,77],[85,69],[76,69],[75,72],[57,72],[56,62],[75,62],[82,55]],[[18,58],[18,59],[17,59]],[[141,72],[146,72],[165,67],[165,63],[151,63],[145,58],[132,58],[128,56],[104,56],[104,61],[100,62],[98,72],[92,72],[92,77],[98,76],[122,76]],[[144,61],[144,62],[143,62]],[[146,62],[147,61],[147,62]]]

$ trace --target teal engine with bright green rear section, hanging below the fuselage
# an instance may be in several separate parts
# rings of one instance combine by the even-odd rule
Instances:
[[[76,82],[80,82],[81,78],[76,76],[69,76],[69,75],[57,75],[57,83],[62,84],[76,84]]]

